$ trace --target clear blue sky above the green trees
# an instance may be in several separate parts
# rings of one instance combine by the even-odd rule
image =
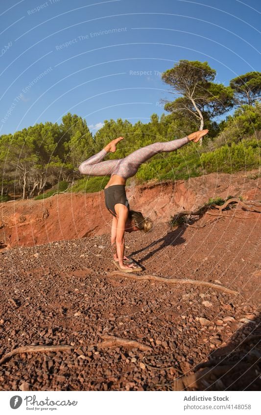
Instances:
[[[148,122],[173,100],[161,73],[207,61],[216,82],[261,70],[259,0],[0,2],[0,134],[67,112]],[[176,95],[178,96],[178,95]]]

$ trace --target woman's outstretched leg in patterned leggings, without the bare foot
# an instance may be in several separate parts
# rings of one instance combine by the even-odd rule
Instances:
[[[146,147],[142,147],[139,150],[135,150],[133,153],[122,158],[119,166],[117,167],[117,173],[123,177],[132,177],[137,173],[137,170],[142,163],[153,157],[155,154],[163,152],[173,152],[179,149],[190,141],[186,136],[178,140],[158,142],[149,144]]]

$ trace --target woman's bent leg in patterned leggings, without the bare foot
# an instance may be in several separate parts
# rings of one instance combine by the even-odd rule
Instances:
[[[112,170],[116,166],[119,160],[101,160],[108,152],[102,149],[99,153],[92,155],[87,160],[83,161],[79,166],[79,172],[82,175],[91,176],[106,176],[111,175]]]

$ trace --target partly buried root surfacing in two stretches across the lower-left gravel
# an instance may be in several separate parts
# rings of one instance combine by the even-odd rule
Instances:
[[[137,348],[143,351],[152,350],[149,346],[145,346],[142,343],[136,342],[135,340],[127,340],[123,339],[121,337],[115,337],[115,336],[109,336],[107,334],[99,334],[99,336],[104,340],[101,343],[96,343],[93,345],[97,349],[103,349],[107,347],[115,347],[115,346],[122,346],[127,349],[130,348]],[[15,354],[20,353],[38,353],[41,351],[48,352],[48,351],[67,351],[67,350],[73,350],[78,349],[79,346],[69,346],[69,345],[38,345],[38,346],[22,346],[17,349],[14,349],[12,351],[9,351],[9,353],[6,353],[1,359],[0,359],[0,365],[2,365],[4,362],[6,362],[10,357],[14,356]]]

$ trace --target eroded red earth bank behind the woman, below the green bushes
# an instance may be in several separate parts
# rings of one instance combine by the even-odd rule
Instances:
[[[212,173],[186,181],[147,183],[126,187],[126,194],[132,209],[156,222],[166,222],[171,215],[193,210],[210,197],[232,195],[260,200],[259,179],[250,178],[257,173]],[[103,191],[10,201],[0,206],[0,247],[33,246],[110,232],[112,217],[105,207]]]

